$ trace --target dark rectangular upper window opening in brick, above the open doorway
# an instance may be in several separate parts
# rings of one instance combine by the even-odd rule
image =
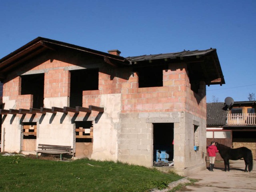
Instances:
[[[149,66],[138,68],[139,88],[143,87],[162,87],[163,86],[163,67]]]

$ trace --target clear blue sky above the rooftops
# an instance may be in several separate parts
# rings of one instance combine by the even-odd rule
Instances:
[[[216,48],[226,84],[207,102],[256,94],[255,0],[0,0],[0,58],[38,36],[124,57]]]

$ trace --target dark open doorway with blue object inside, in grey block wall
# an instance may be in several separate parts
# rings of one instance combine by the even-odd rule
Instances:
[[[173,160],[173,140],[174,124],[173,123],[153,123],[154,134],[154,155],[153,162]]]

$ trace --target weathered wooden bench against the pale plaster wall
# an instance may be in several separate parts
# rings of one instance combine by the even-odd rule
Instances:
[[[38,153],[60,154],[60,160],[62,160],[62,154],[72,154],[72,152],[71,146],[38,144],[36,157],[38,158]]]

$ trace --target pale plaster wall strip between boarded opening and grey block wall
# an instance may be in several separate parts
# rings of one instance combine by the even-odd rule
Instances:
[[[100,106],[104,106],[104,113],[94,122],[91,158],[117,160],[117,130],[120,126],[121,94],[101,95]]]

